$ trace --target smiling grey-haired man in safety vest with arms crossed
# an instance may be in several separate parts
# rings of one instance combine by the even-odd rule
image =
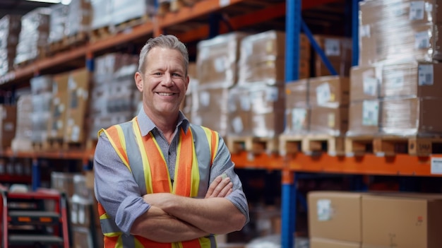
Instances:
[[[188,65],[177,37],[148,40],[135,74],[142,110],[100,131],[94,170],[104,247],[216,247],[215,234],[249,221],[224,141],[179,111]]]

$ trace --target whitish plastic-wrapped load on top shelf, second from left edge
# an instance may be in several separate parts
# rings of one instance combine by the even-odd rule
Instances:
[[[35,8],[22,16],[16,58],[14,59],[15,65],[44,55],[49,37],[50,13],[50,8]]]

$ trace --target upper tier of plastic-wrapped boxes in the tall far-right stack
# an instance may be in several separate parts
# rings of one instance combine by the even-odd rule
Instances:
[[[390,59],[441,59],[439,6],[439,0],[361,1],[359,65]]]

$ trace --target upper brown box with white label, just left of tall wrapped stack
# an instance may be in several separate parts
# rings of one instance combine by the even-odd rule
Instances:
[[[350,80],[340,76],[321,76],[309,79],[309,105],[339,107],[348,105]]]

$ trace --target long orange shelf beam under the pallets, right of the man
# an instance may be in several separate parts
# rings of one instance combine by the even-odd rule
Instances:
[[[267,154],[253,157],[246,152],[232,154],[232,160],[237,168],[357,175],[441,177],[442,172],[437,172],[437,165],[431,163],[431,160],[435,158],[442,160],[442,155],[417,157],[398,154],[393,157],[379,157],[374,154],[366,154],[360,157],[345,157],[327,154],[311,156],[299,153],[292,158],[286,158]],[[431,170],[432,166],[433,172]]]

